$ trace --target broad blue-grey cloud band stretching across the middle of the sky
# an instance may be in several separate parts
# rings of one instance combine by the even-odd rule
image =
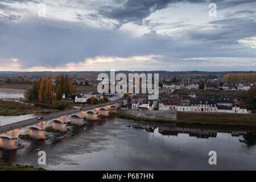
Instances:
[[[210,24],[220,27],[207,31],[198,28],[180,31],[175,37],[151,30],[135,37],[127,32],[107,32],[79,22],[49,19],[31,19],[26,23],[5,22],[1,26],[0,40],[3,41],[0,44],[0,55],[5,59],[18,58],[23,68],[39,65],[57,67],[96,56],[166,55],[159,61],[169,63],[172,62],[170,57],[255,56],[255,49],[241,46],[237,42],[237,39],[256,36],[254,20],[237,18],[216,20]],[[200,60],[179,61],[188,62],[195,65],[201,63]]]

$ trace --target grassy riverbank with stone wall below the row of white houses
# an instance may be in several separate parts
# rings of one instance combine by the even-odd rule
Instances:
[[[256,128],[256,115],[249,114],[208,114],[208,113],[177,113],[177,120],[156,119],[136,117],[125,113],[109,113],[110,117],[122,119],[132,119],[135,121],[154,121],[169,122],[186,125],[208,125],[208,126],[226,126],[236,128]]]

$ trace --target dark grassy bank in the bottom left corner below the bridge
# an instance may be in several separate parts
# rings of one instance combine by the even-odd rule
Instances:
[[[46,169],[34,168],[33,166],[22,166],[19,164],[2,163],[0,162],[0,171],[47,171]]]

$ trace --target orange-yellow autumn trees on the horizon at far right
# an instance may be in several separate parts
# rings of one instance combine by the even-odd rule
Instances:
[[[251,74],[228,73],[224,75],[223,80],[226,82],[255,82],[256,73],[251,73]]]

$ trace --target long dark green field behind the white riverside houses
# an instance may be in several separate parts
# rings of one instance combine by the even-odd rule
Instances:
[[[246,98],[247,91],[228,91],[228,90],[175,90],[174,94],[196,93],[196,96],[232,96],[233,98]]]

